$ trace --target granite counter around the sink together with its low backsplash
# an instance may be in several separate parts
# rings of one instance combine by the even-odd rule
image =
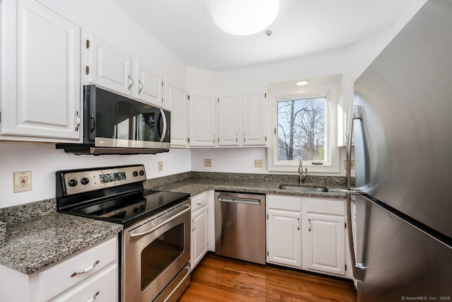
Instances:
[[[297,183],[296,175],[256,175],[251,179],[247,175],[240,177],[239,174],[235,173],[225,173],[224,175],[222,175],[222,173],[205,173],[203,175],[192,176],[195,177],[176,180],[174,182],[168,183],[155,183],[153,182],[153,180],[150,180],[146,182],[146,188],[150,190],[184,192],[191,194],[191,196],[194,196],[206,190],[223,190],[230,192],[254,192],[260,194],[285,194],[309,197],[347,197],[345,192],[296,192],[281,190],[279,188],[280,184],[283,183]],[[345,189],[342,178],[340,178],[340,181],[338,181],[338,178],[311,177],[307,184],[325,185],[326,187],[328,187],[328,189]]]

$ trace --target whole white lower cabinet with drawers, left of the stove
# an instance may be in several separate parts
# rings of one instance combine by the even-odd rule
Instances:
[[[118,274],[114,236],[29,275],[0,266],[0,301],[119,301]]]

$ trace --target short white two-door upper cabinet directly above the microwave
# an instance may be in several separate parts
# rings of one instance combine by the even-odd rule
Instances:
[[[86,41],[88,83],[164,107],[162,76],[96,35]]]

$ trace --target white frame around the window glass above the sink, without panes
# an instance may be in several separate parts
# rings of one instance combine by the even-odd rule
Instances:
[[[339,83],[326,83],[316,86],[307,86],[302,91],[296,89],[290,91],[268,90],[269,95],[269,120],[271,121],[268,148],[268,170],[271,172],[298,173],[299,161],[278,161],[278,101],[296,100],[299,98],[327,97],[326,100],[326,161],[322,165],[313,165],[314,161],[303,160],[303,167],[308,169],[308,174],[337,175],[340,173],[340,151],[338,149],[338,85]]]

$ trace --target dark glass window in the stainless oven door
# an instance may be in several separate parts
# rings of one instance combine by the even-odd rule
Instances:
[[[184,252],[184,223],[170,228],[141,252],[141,291]]]

